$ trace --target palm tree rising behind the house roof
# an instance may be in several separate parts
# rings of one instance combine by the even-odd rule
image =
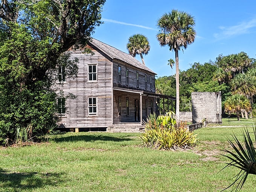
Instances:
[[[145,65],[142,54],[147,55],[150,49],[148,38],[142,34],[135,34],[129,37],[126,48],[129,54],[135,57],[137,54],[140,55],[142,63]]]

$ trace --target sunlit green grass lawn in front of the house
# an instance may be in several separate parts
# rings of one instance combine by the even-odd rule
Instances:
[[[253,129],[249,127],[251,133]],[[140,148],[137,134],[66,133],[48,143],[0,149],[0,191],[6,192],[215,192],[232,183],[238,169],[219,172],[230,148],[226,137],[242,128],[196,130],[188,151]],[[255,188],[249,175],[242,191]],[[230,189],[227,191],[231,191]]]

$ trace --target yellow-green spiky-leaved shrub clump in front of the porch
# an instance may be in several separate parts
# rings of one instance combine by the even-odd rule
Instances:
[[[138,137],[142,140],[142,146],[154,149],[180,149],[190,148],[197,142],[197,136],[186,127],[186,122],[181,122],[179,126],[171,117],[173,112],[165,116],[150,114],[144,122],[145,133]]]

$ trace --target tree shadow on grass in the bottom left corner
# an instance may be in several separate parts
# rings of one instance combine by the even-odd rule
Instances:
[[[46,185],[56,186],[62,183],[59,179],[61,174],[55,173],[13,173],[0,170],[0,189],[1,191],[19,192],[21,190],[33,190]]]

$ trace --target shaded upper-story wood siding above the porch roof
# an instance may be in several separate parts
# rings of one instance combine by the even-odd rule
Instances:
[[[118,66],[121,67],[121,82],[118,82]],[[126,84],[126,69],[129,70],[128,85]],[[139,87],[137,87],[137,72],[139,72]],[[147,75],[147,88],[145,88],[145,75]],[[150,78],[152,79],[152,88],[150,88]],[[155,75],[128,64],[113,61],[113,86],[155,93]]]

